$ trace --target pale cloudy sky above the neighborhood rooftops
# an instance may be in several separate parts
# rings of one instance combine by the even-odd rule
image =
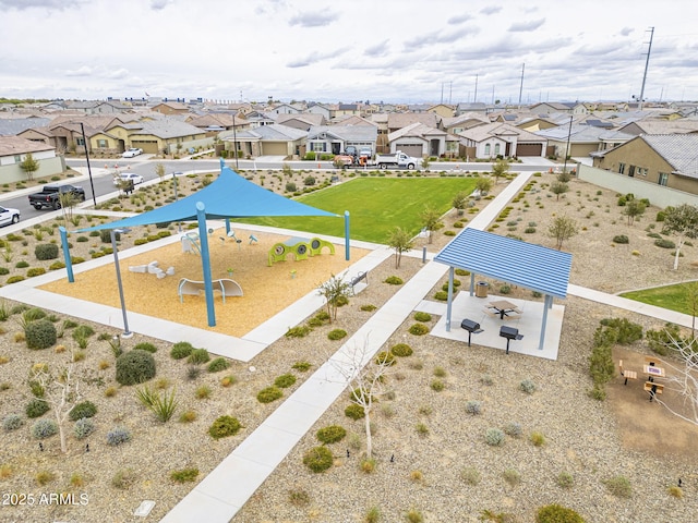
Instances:
[[[0,96],[698,100],[695,0],[0,0]],[[522,89],[521,89],[521,77]]]

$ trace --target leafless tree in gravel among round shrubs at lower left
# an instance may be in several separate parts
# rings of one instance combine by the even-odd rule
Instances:
[[[37,382],[43,390],[43,396],[36,398],[48,403],[56,415],[58,434],[61,439],[61,452],[68,452],[65,441],[65,421],[70,412],[82,399],[80,380],[74,376],[74,364],[68,364],[58,376],[50,374],[47,365],[37,365],[32,370],[31,380]],[[34,388],[33,388],[34,389]]]

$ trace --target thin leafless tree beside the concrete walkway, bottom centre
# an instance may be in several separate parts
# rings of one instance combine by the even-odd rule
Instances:
[[[340,353],[330,357],[329,362],[342,378],[349,382],[351,402],[363,409],[366,458],[371,459],[373,454],[371,413],[375,401],[388,391],[386,376],[395,362],[387,351],[374,356],[369,349],[368,339],[363,345],[346,346]]]

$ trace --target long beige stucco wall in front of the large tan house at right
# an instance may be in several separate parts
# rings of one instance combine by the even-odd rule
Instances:
[[[664,187],[657,183],[645,182],[617,172],[578,163],[577,177],[579,180],[610,188],[618,194],[633,193],[636,198],[648,198],[652,205],[658,207],[664,208],[670,205],[676,206],[681,204],[698,207],[698,196],[696,195]]]

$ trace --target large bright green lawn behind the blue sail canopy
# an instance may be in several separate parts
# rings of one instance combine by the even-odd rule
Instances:
[[[350,215],[352,240],[385,243],[388,232],[401,227],[417,234],[420,215],[425,207],[446,212],[460,191],[471,193],[477,179],[472,178],[358,178],[298,198],[303,204],[336,212],[341,218],[255,218],[238,220],[281,227],[334,236],[345,235],[345,210]]]

